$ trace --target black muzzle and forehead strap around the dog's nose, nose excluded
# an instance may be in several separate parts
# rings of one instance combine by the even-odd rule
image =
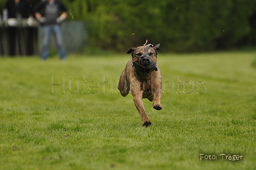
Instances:
[[[135,62],[132,62],[133,66],[136,67],[139,71],[141,71],[144,74],[148,74],[149,72],[154,70],[157,71],[157,67],[155,67],[156,65],[155,62],[150,58],[149,54],[147,54],[147,51],[149,51],[149,47],[153,47],[153,45],[148,44],[146,46],[145,52]],[[139,64],[139,59],[145,58],[145,57],[149,59],[150,64],[148,66],[141,66]]]

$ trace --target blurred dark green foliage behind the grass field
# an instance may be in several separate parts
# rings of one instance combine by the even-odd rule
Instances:
[[[28,0],[33,7],[41,0]],[[253,0],[62,0],[69,20],[86,23],[91,48],[123,51],[161,43],[166,52],[254,48]],[[2,11],[5,1],[0,2]],[[166,50],[168,49],[168,50]]]

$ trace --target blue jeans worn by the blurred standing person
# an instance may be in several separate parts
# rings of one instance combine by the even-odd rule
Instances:
[[[66,59],[66,52],[62,44],[61,26],[59,25],[46,25],[43,26],[43,42],[41,49],[41,59],[46,60],[49,55],[51,33],[54,35],[55,43],[58,49],[59,58]]]

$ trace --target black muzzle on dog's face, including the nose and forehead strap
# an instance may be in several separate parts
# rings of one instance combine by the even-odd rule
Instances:
[[[149,72],[154,70],[157,71],[157,67],[155,67],[155,62],[150,58],[149,54],[147,54],[147,51],[149,51],[149,47],[153,47],[153,45],[148,44],[146,46],[144,54],[142,54],[135,62],[132,62],[133,66],[136,67],[143,74],[148,74]]]

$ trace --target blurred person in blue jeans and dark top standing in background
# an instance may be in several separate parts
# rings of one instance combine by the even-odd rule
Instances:
[[[66,19],[67,7],[60,0],[46,0],[39,2],[34,7],[35,18],[43,26],[43,42],[41,59],[46,60],[49,55],[50,35],[53,33],[59,57],[66,59],[66,52],[62,44],[60,24]]]

